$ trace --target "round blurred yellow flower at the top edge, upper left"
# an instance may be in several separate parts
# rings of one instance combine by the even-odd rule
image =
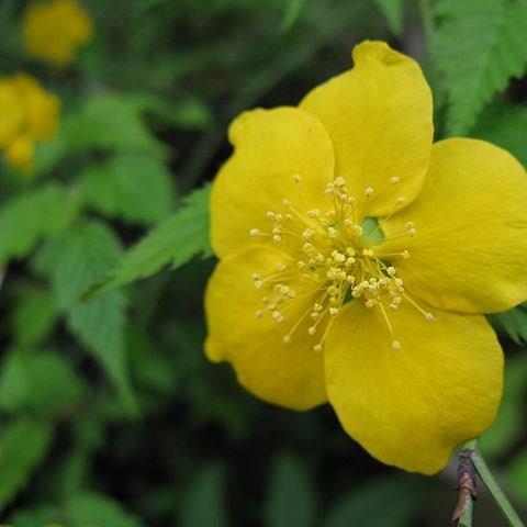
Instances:
[[[64,67],[93,34],[91,19],[77,0],[32,2],[24,13],[24,42],[29,55]]]

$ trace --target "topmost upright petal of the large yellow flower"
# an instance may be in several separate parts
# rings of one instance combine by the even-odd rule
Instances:
[[[423,186],[433,139],[431,94],[417,63],[382,42],[356,46],[354,63],[354,69],[311,91],[300,108],[327,130],[335,175],[346,178],[351,193],[361,198],[373,189],[361,214],[381,216],[397,198],[404,198],[401,206],[410,203]],[[391,184],[392,178],[400,182]]]

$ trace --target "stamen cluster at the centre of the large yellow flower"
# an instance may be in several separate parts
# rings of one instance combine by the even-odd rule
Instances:
[[[301,183],[301,176],[293,178]],[[393,177],[390,184],[399,181],[400,178]],[[278,210],[266,214],[269,231],[250,229],[250,236],[270,239],[295,260],[294,265],[278,264],[276,272],[267,276],[253,273],[254,285],[264,293],[264,309],[259,309],[256,316],[261,318],[268,313],[277,323],[287,326],[284,343],[290,343],[300,330],[307,332],[314,338],[313,349],[322,351],[343,304],[358,301],[368,310],[379,310],[391,336],[392,348],[400,349],[390,311],[407,301],[428,321],[434,319],[431,313],[407,294],[403,279],[390,264],[393,258],[410,258],[410,253],[404,249],[388,255],[375,250],[384,239],[380,225],[374,218],[358,217],[356,211],[363,210],[363,206],[357,205],[365,203],[359,203],[349,193],[344,178],[328,183],[324,194],[327,199],[325,210],[299,210],[290,200],[283,199]],[[369,201],[373,195],[374,189],[368,187],[360,200]],[[403,203],[404,197],[397,198],[389,216]],[[415,225],[408,222],[401,237],[415,235]],[[300,303],[307,309],[299,315],[294,307]],[[294,316],[289,315],[291,312],[295,313]]]

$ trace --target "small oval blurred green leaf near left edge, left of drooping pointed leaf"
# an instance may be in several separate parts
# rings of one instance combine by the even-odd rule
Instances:
[[[19,291],[12,325],[15,340],[21,346],[41,343],[53,330],[58,311],[47,290],[24,287]]]

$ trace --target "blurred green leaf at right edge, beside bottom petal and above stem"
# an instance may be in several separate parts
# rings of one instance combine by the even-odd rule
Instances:
[[[485,458],[505,456],[520,439],[524,426],[525,394],[527,392],[527,357],[506,361],[502,403],[491,428],[479,439]]]

